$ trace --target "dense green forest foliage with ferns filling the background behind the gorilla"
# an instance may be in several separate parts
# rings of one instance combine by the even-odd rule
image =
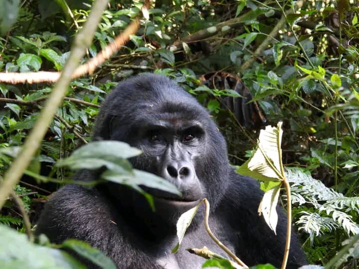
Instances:
[[[92,1],[0,4],[0,72],[30,72],[62,70]],[[86,58],[112,42],[142,4],[110,1]],[[154,1],[149,19],[141,19],[125,47],[92,75],[72,81],[41,148],[14,187],[32,225],[47,196],[71,181],[72,172],[54,163],[90,140],[107,93],[131,75],[157,72],[175,79],[211,111],[235,165],[251,155],[264,122],[283,121],[293,221],[309,261],[327,264],[359,233],[358,11],[357,0]],[[249,89],[253,102],[245,102],[243,111],[256,104],[245,119],[225,106],[228,98],[248,95],[237,91],[238,84]],[[51,87],[0,84],[0,175],[33,128]],[[0,224],[24,232],[21,214],[9,197]],[[11,236],[1,240],[0,249]],[[358,248],[348,249],[335,266],[358,267]]]

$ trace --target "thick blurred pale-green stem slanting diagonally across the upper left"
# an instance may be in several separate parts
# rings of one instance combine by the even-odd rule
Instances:
[[[30,134],[27,136],[21,151],[11,163],[10,168],[6,171],[3,180],[0,182],[0,209],[3,206],[6,197],[11,193],[13,186],[20,180],[24,170],[29,165],[33,155],[40,146],[40,142],[46,134],[57,108],[62,103],[67,87],[71,82],[72,76],[80,60],[85,54],[86,48],[91,45],[92,36],[107,3],[108,0],[96,0],[94,2],[87,21],[76,36],[74,47],[71,49],[69,59],[66,61],[59,80],[51,91],[49,98],[46,100],[45,106],[41,110]]]

